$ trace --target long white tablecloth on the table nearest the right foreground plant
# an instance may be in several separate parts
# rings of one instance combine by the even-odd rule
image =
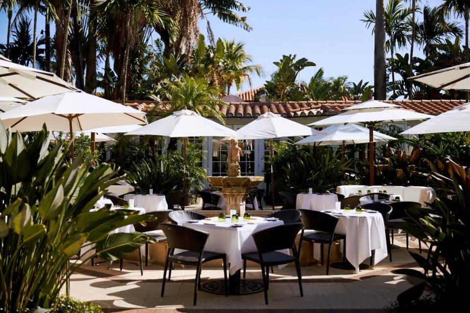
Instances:
[[[346,235],[346,259],[359,271],[359,264],[376,250],[374,265],[387,256],[385,225],[380,213],[347,213],[339,217],[335,233]]]

